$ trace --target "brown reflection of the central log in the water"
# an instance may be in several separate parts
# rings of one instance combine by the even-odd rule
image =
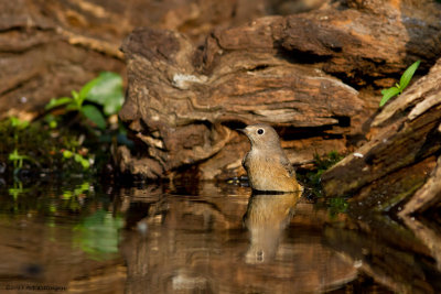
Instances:
[[[321,213],[310,204],[297,214],[311,218],[301,221],[311,226],[278,237],[272,262],[247,262],[247,224],[256,217],[255,225],[270,224],[281,233],[297,198],[255,195],[249,203],[247,194],[213,195],[163,197],[150,206],[144,235],[125,231],[126,293],[320,293],[356,277],[353,264],[322,244]]]

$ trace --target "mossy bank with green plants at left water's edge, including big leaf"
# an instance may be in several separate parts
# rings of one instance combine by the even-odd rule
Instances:
[[[99,173],[114,145],[130,143],[116,116],[122,104],[121,76],[104,72],[71,97],[52,99],[43,119],[1,120],[0,163],[10,166],[7,181],[25,181],[30,173]]]

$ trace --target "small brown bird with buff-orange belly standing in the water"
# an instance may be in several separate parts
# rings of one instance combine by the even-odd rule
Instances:
[[[295,172],[280,145],[279,135],[271,126],[257,123],[240,130],[251,142],[251,150],[241,164],[255,190],[302,192]]]

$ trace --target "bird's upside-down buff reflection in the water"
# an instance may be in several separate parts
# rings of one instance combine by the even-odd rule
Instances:
[[[249,198],[244,224],[250,232],[247,263],[271,261],[283,229],[290,222],[301,193],[255,194]]]

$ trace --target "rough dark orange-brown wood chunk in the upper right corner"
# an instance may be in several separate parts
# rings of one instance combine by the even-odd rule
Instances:
[[[278,40],[297,53],[293,58],[321,62],[324,72],[349,85],[386,87],[413,61],[428,69],[439,57],[440,17],[434,1],[340,1],[287,18]]]

